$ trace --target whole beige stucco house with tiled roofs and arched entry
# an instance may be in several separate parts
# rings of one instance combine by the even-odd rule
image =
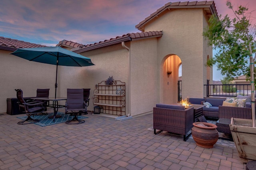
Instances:
[[[169,2],[136,25],[140,33],[89,45],[60,41],[57,46],[89,57],[95,66],[60,66],[58,96],[65,97],[67,88],[91,88],[92,98],[95,85],[113,76],[126,83],[126,115],[151,113],[157,103],[178,102],[182,64],[182,98],[205,97],[204,84],[212,82],[212,68],[205,65],[212,47],[202,32],[213,14],[217,15],[214,1]],[[53,96],[56,67],[10,55],[20,47],[6,47],[0,38],[0,113],[6,112],[6,98],[16,96],[15,88],[25,97],[35,96],[37,88],[50,88]],[[88,110],[93,110],[92,103]]]

